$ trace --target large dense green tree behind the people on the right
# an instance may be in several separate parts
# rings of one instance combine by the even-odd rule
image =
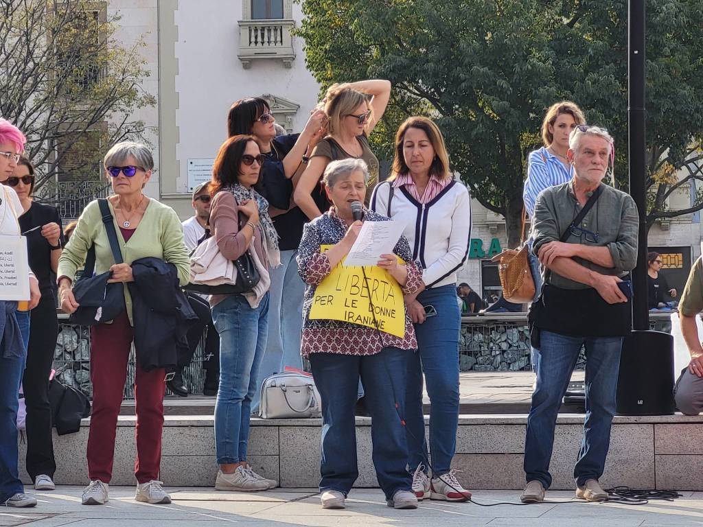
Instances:
[[[624,0],[302,0],[306,60],[318,82],[389,79],[392,103],[372,140],[392,152],[397,125],[436,119],[453,169],[520,237],[522,184],[546,108],[574,100],[617,140],[626,183],[627,38]],[[650,221],[697,169],[703,131],[703,0],[647,2]],[[667,167],[687,178],[662,178]]]

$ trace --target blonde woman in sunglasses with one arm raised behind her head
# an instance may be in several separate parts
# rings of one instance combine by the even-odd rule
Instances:
[[[330,161],[361,159],[370,174],[366,188],[378,183],[378,158],[371,151],[368,135],[383,116],[390,95],[391,83],[385,80],[333,84],[327,90],[321,103],[328,117],[327,136],[317,143],[311,157],[303,157],[307,167],[293,194],[293,200],[309,219],[321,216],[330,207],[319,188]],[[366,196],[368,205],[370,193]]]

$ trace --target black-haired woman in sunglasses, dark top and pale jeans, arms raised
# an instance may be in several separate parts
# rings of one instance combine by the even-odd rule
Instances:
[[[304,284],[298,276],[295,255],[307,216],[295,206],[292,193],[306,166],[305,161],[323,136],[325,120],[323,111],[314,110],[300,134],[277,136],[276,119],[266,100],[240,99],[229,110],[228,135],[251,135],[261,150],[261,178],[254,189],[269,202],[280,245],[281,264],[271,270],[269,340],[259,370],[259,382],[286,366],[302,367],[300,332]],[[257,390],[252,410],[258,405]]]

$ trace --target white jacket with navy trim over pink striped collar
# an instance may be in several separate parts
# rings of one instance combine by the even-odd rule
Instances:
[[[423,269],[425,287],[456,285],[457,271],[469,253],[471,238],[471,198],[469,191],[452,181],[427,204],[419,203],[404,187],[394,188],[388,207],[392,183],[376,186],[370,208],[405,223],[403,234],[413,249],[413,259]]]

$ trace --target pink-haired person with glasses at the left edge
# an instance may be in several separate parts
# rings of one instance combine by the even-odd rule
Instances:
[[[5,119],[0,119],[0,183],[17,167],[25,150],[25,136]],[[0,236],[20,235],[20,198],[13,188],[0,185]],[[29,308],[39,303],[39,283],[30,273]],[[18,474],[17,409],[27,345],[17,320],[17,301],[0,297],[0,504],[8,507],[34,507],[37,499],[25,494]]]

